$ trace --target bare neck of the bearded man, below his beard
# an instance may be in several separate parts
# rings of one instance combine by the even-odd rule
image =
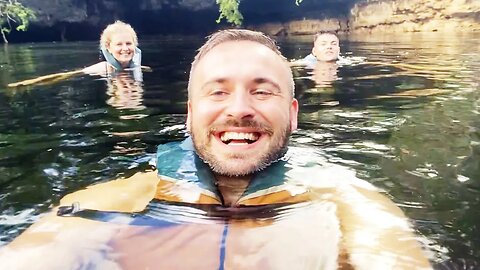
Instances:
[[[235,206],[252,180],[252,176],[228,177],[215,175],[215,185],[222,195],[224,206]]]

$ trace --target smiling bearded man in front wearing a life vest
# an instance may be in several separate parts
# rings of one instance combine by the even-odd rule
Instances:
[[[191,137],[158,147],[157,172],[67,195],[0,268],[430,269],[392,201],[288,148],[298,101],[269,37],[210,36],[187,111]]]

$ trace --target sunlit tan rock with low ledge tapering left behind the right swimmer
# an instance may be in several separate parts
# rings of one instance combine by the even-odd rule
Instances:
[[[337,32],[451,32],[480,31],[479,0],[359,1],[346,18],[293,20],[264,24],[272,35]]]

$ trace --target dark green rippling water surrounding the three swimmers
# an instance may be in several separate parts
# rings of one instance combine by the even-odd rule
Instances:
[[[7,89],[93,64],[98,52],[90,42],[2,48],[0,246],[65,194],[142,171],[158,144],[185,136],[189,65],[202,42],[141,40],[153,72],[128,91],[89,76]],[[299,58],[311,40],[279,45]],[[312,70],[294,69],[300,116],[291,144],[384,189],[433,261],[480,260],[480,34],[350,36],[341,48],[367,63],[333,77],[316,67],[320,84]]]

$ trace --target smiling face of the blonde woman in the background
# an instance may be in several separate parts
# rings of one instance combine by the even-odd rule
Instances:
[[[122,67],[128,67],[135,53],[135,42],[129,33],[115,33],[112,35],[107,50],[117,59]]]

